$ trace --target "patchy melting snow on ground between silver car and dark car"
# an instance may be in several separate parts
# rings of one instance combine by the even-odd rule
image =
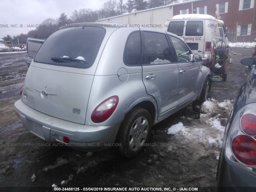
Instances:
[[[214,99],[207,100],[201,107],[200,123],[198,122],[196,126],[183,126],[183,123],[180,122],[168,128],[168,134],[175,134],[177,138],[184,140],[184,142],[189,140],[190,145],[199,144],[206,148],[216,149],[216,155],[218,155],[217,150],[222,146],[225,125],[233,102],[233,100],[222,102]],[[223,112],[225,116],[221,115]],[[191,117],[183,116],[181,119],[190,120]],[[182,139],[182,137],[185,137],[185,139]]]

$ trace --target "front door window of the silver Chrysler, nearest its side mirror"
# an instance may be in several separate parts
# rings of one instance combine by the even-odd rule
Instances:
[[[191,52],[188,48],[188,46],[186,46],[186,44],[173,36],[169,36],[170,40],[172,41],[172,44],[174,45],[174,49],[178,58],[178,62],[190,62],[191,60]]]

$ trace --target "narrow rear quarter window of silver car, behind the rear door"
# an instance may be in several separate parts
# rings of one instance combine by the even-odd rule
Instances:
[[[124,48],[124,64],[141,65],[140,32],[130,34]]]

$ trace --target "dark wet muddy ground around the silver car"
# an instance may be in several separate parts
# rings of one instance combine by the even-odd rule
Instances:
[[[246,80],[247,68],[240,64],[253,49],[233,48],[233,64],[228,66],[226,82],[213,83],[209,98],[234,100],[239,87]],[[170,126],[183,122],[184,126],[205,129],[210,126],[196,118],[199,109],[188,106],[156,124],[152,128],[151,146],[140,156],[124,159],[112,148],[102,152],[80,152],[65,146],[46,146],[46,142],[27,131],[14,113],[14,102],[28,70],[26,53],[0,54],[0,186],[47,187],[207,187],[215,191],[219,147],[207,147],[197,139],[167,134]],[[221,111],[222,118],[228,113]],[[182,117],[185,117],[182,118]],[[189,118],[188,118],[189,117]],[[225,121],[222,122],[225,126]],[[31,181],[35,174],[36,180]],[[2,188],[3,189],[3,188]],[[39,191],[40,188],[32,188]],[[18,191],[5,188],[4,191]],[[0,188],[1,191],[1,188]]]

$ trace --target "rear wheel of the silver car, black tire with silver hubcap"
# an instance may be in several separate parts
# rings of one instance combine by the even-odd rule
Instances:
[[[150,131],[151,116],[147,110],[136,107],[128,112],[117,135],[121,154],[126,158],[140,154],[148,141]]]

